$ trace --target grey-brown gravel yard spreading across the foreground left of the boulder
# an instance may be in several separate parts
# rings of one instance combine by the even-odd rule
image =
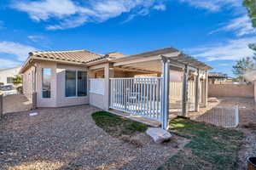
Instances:
[[[97,127],[81,105],[7,114],[0,122],[0,165],[3,169],[155,169],[189,141],[154,144],[145,133],[142,146],[115,139]]]

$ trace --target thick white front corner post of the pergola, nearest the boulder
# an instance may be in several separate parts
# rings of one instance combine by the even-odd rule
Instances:
[[[166,58],[162,58],[162,87],[161,87],[161,127],[168,129],[169,122],[169,86],[170,64]]]

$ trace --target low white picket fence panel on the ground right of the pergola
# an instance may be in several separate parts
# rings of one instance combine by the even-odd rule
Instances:
[[[207,122],[220,127],[237,127],[239,123],[239,108],[214,107],[204,115],[195,118],[199,122]]]

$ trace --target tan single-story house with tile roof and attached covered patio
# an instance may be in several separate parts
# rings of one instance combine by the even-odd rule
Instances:
[[[172,111],[207,105],[212,69],[176,48],[141,54],[96,54],[86,50],[32,52],[20,73],[24,94],[38,107],[90,104],[161,122]]]

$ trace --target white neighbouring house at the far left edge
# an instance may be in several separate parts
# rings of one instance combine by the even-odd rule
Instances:
[[[13,85],[13,78],[19,75],[21,66],[0,70],[0,85]]]

